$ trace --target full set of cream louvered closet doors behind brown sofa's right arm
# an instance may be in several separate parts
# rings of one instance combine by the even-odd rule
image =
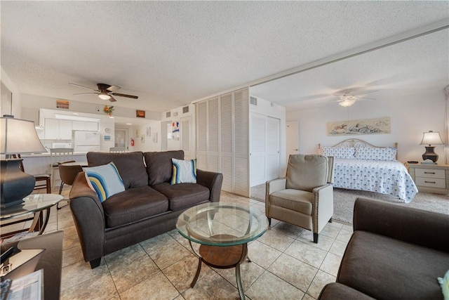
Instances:
[[[198,168],[222,173],[222,190],[247,197],[248,105],[248,88],[195,105]]]

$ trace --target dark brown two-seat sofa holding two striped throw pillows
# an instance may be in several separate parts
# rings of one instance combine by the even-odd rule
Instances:
[[[188,207],[220,200],[219,173],[197,169],[196,183],[171,185],[172,158],[184,159],[184,152],[88,152],[89,167],[114,162],[126,189],[100,202],[84,172],[72,185],[70,209],[84,260],[92,268],[106,254],[173,230]]]

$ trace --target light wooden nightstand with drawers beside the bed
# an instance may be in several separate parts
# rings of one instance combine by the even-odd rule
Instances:
[[[408,164],[408,173],[420,192],[449,194],[449,164]]]

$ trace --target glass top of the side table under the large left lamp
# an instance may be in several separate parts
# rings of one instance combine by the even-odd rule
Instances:
[[[34,214],[58,204],[64,197],[57,194],[31,194],[23,198],[25,202],[1,209],[1,219],[10,219],[24,214]]]

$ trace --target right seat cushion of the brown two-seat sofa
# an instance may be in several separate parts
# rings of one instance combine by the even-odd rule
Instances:
[[[159,183],[152,188],[168,197],[169,208],[172,211],[185,209],[192,205],[209,200],[210,190],[197,183],[180,183],[170,185],[170,183]]]

